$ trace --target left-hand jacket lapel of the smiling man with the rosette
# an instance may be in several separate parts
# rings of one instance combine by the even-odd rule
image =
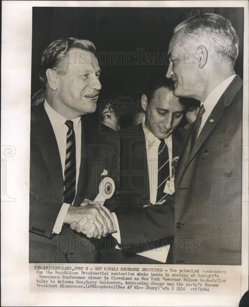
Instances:
[[[43,103],[34,108],[31,110],[31,124],[33,126],[31,131],[41,150],[42,157],[57,190],[58,198],[61,201],[63,197],[63,174],[54,130]]]

